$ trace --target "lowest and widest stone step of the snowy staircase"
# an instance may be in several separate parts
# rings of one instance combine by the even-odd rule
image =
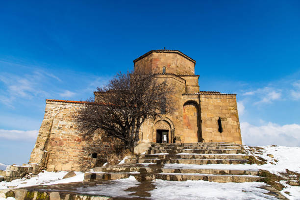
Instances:
[[[138,181],[145,180],[172,180],[172,181],[186,181],[186,180],[206,180],[214,182],[252,182],[262,179],[260,176],[254,175],[211,175],[211,174],[182,174],[182,173],[85,173],[84,181],[98,181],[98,180],[115,180],[120,178],[127,178],[133,175]]]

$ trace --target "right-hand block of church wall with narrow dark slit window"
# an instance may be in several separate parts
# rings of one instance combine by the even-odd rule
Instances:
[[[242,144],[236,96],[200,94],[201,131],[205,142]],[[218,119],[223,132],[219,132]]]

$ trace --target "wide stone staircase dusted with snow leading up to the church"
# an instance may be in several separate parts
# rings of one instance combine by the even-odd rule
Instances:
[[[249,156],[242,153],[241,146],[233,143],[152,143],[145,154],[131,155],[125,159],[125,164],[98,167],[85,173],[84,181],[112,180],[127,178],[130,175],[139,181],[163,179],[251,182],[260,180],[262,177],[258,176],[258,171],[255,170],[230,170],[225,169],[224,166],[222,169],[222,165],[220,168],[209,168],[208,165],[245,163],[249,163]]]

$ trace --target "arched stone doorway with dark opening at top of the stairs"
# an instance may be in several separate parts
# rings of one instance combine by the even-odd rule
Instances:
[[[172,127],[166,120],[158,120],[153,126],[153,140],[156,143],[171,143],[172,142]]]

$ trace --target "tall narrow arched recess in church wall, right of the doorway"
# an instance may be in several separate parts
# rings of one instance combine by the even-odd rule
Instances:
[[[200,142],[199,107],[195,101],[187,101],[183,104],[183,142]]]

